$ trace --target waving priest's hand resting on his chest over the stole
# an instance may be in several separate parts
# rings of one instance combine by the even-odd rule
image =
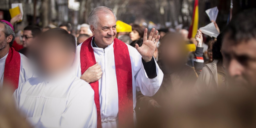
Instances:
[[[80,77],[80,79],[86,81],[87,83],[93,83],[95,81],[100,80],[102,75],[101,66],[96,62],[95,65],[89,67],[84,74]]]

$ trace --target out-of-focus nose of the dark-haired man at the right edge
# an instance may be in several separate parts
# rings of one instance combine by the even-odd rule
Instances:
[[[230,76],[242,75],[243,66],[237,60],[231,60],[228,67],[228,72]]]

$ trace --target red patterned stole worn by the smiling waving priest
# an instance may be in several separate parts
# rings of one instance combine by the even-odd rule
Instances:
[[[81,45],[80,61],[81,73],[83,74],[89,67],[95,65],[96,60],[93,48],[91,47],[92,37]],[[131,60],[127,45],[114,39],[114,57],[116,67],[116,80],[118,86],[118,127],[134,127],[133,125],[133,96],[132,96],[132,70]],[[90,83],[94,89],[95,104],[97,108],[97,128],[101,128],[99,82]]]

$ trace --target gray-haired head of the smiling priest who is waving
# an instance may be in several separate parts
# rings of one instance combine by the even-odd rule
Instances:
[[[88,22],[98,47],[105,48],[116,37],[116,16],[112,9],[98,6],[89,14]]]

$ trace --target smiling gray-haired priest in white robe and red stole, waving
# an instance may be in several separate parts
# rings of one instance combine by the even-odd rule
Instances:
[[[136,121],[136,91],[153,96],[163,73],[153,54],[160,38],[152,29],[141,47],[125,44],[116,37],[116,16],[105,6],[92,10],[88,18],[94,37],[77,46],[75,73],[95,91],[98,128],[132,128]]]

